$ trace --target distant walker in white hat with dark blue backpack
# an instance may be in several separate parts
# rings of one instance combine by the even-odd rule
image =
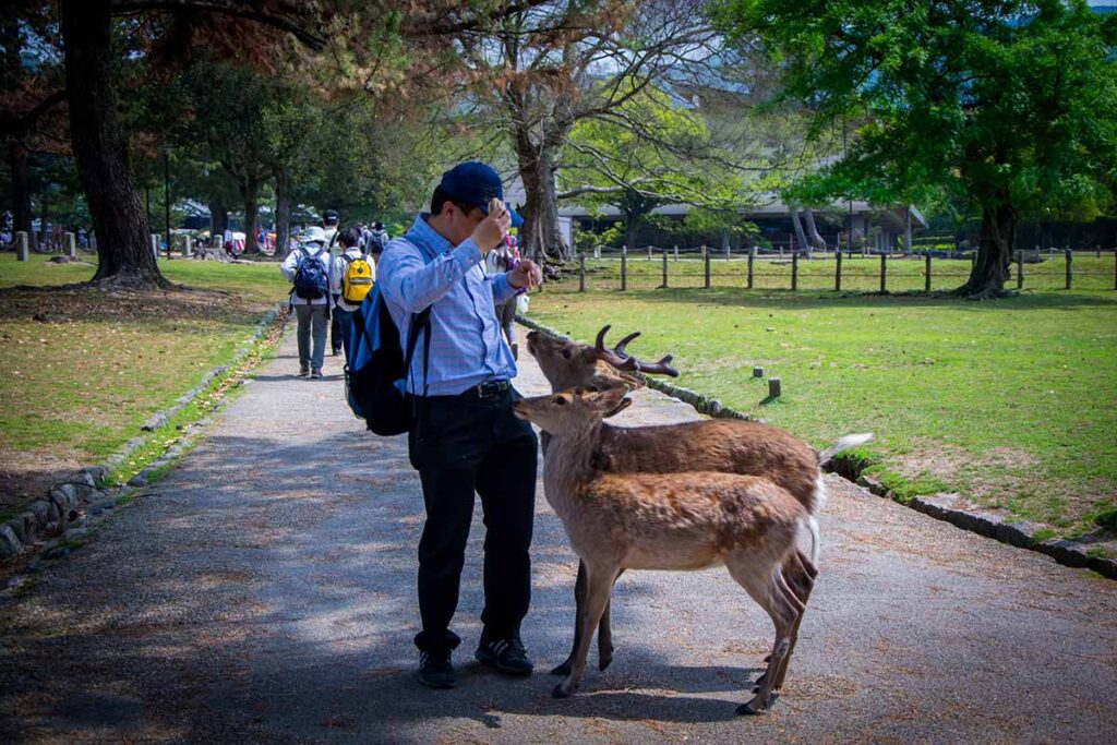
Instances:
[[[298,375],[322,378],[330,319],[330,250],[326,233],[313,227],[306,240],[283,262],[283,275],[292,283],[290,304],[298,322]]]

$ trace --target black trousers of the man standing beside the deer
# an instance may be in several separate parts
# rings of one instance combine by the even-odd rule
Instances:
[[[531,426],[512,413],[518,398],[509,390],[490,399],[428,397],[419,404],[408,445],[427,506],[419,542],[420,650],[454,649],[460,641],[449,625],[475,493],[485,513],[485,630],[494,639],[518,636],[527,614],[537,449]]]

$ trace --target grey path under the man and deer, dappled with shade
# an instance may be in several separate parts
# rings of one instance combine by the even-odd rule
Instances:
[[[341,364],[294,337],[149,494],[0,609],[0,742],[1113,742],[1117,583],[830,479],[822,574],[784,695],[734,716],[772,642],[724,571],[630,573],[617,659],[550,697],[573,555],[542,485],[525,680],[471,660],[480,509],[456,630],[461,684],[416,681],[422,525],[405,438],[362,431]],[[517,385],[544,391],[526,362]],[[639,393],[628,423],[693,418]],[[591,657],[591,663],[595,653]]]

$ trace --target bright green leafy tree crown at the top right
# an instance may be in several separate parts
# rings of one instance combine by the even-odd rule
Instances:
[[[1082,0],[722,0],[713,15],[780,61],[782,97],[817,114],[812,137],[849,131],[848,154],[799,187],[804,200],[946,190],[1063,219],[1111,203],[1117,17]]]

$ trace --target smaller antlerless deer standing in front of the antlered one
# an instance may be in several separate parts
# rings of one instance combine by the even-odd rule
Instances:
[[[524,399],[514,407],[517,417],[552,436],[543,461],[546,498],[585,567],[573,661],[554,695],[564,698],[577,689],[593,629],[621,571],[693,571],[724,564],[775,625],[775,643],[756,696],[737,708],[738,714],[765,711],[783,686],[805,608],[783,566],[795,553],[801,529],[811,531],[817,548],[817,525],[799,500],[765,478],[601,471],[593,456],[601,420],[628,405],[626,392],[574,390]],[[813,576],[813,561],[799,561]]]

